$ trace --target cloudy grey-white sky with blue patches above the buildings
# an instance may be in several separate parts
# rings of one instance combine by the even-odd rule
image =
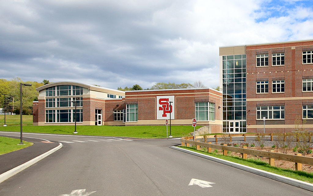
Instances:
[[[2,0],[0,78],[216,87],[220,46],[303,39],[311,0]]]

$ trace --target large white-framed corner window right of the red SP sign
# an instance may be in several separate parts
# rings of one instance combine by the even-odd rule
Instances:
[[[199,121],[215,120],[215,103],[196,102],[195,103],[196,119]]]

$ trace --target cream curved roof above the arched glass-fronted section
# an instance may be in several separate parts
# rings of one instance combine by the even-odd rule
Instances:
[[[49,83],[49,84],[46,84],[46,85],[43,85],[41,87],[36,88],[36,90],[39,92],[39,91],[44,90],[46,88],[50,88],[50,87],[58,86],[58,85],[75,85],[75,86],[85,87],[85,88],[88,88],[88,89],[94,90],[94,91],[101,91],[101,92],[115,91],[117,93],[125,93],[124,91],[115,90],[112,88],[104,88],[104,87],[94,86],[94,85],[90,85],[90,84],[84,84],[84,83],[79,83],[79,82],[70,82],[70,81]]]

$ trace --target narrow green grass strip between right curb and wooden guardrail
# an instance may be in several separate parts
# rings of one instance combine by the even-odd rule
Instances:
[[[200,148],[201,150],[196,150],[195,148],[192,148],[192,147],[184,147],[184,146],[179,146],[179,147],[187,149],[187,150],[191,150],[194,152],[206,154],[206,155],[209,155],[212,157],[221,158],[221,159],[231,161],[234,163],[246,165],[246,166],[249,166],[252,168],[257,168],[257,169],[261,169],[261,170],[264,170],[267,172],[276,173],[276,174],[286,176],[289,178],[294,178],[297,180],[313,183],[313,173],[307,173],[304,171],[294,171],[294,170],[290,170],[290,169],[272,167],[268,163],[261,161],[259,159],[253,159],[253,158],[242,159],[240,157],[235,157],[235,156],[224,156],[223,154],[214,153],[213,149],[212,149],[212,153],[205,152],[205,151],[207,151],[208,148],[205,148],[205,150],[203,150],[201,148]]]

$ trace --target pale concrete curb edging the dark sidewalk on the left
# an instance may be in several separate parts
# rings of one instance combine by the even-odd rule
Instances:
[[[24,169],[28,168],[29,166],[37,163],[38,161],[40,161],[41,159],[47,157],[48,155],[54,153],[55,151],[59,150],[60,148],[62,148],[63,144],[59,143],[59,146],[49,150],[48,152],[45,152],[41,155],[39,155],[38,157],[33,158],[32,160],[27,161],[26,163],[23,163],[7,172],[4,172],[2,174],[0,174],[0,183],[2,183],[3,181],[5,181],[6,179],[14,176],[15,174],[23,171]]]

